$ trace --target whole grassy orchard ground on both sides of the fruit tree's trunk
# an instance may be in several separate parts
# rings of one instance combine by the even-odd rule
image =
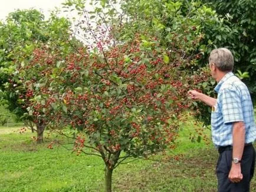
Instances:
[[[103,191],[104,165],[99,157],[71,153],[72,140],[51,134],[36,144],[31,131],[0,128],[1,191]],[[193,123],[182,125],[177,147],[154,160],[136,160],[114,170],[113,191],[216,191],[218,153],[212,144],[191,142]],[[209,136],[210,131],[204,130]],[[53,149],[47,148],[58,141]],[[130,159],[132,160],[132,159]],[[251,183],[256,191],[256,176]]]

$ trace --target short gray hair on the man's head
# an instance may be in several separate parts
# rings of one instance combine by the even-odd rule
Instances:
[[[229,72],[234,68],[234,57],[227,48],[214,49],[209,57],[209,64],[212,63],[214,63],[220,71]]]

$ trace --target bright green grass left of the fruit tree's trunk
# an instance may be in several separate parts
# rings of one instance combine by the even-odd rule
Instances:
[[[11,128],[9,133],[8,130],[0,129],[1,191],[94,191],[99,188],[96,183],[103,181],[104,168],[100,158],[77,156],[61,145],[50,150],[47,148],[50,140],[37,145],[31,140],[31,133],[13,132],[18,128]]]

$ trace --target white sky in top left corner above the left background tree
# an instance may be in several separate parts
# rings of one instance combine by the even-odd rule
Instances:
[[[0,0],[0,20],[4,21],[9,12],[29,8],[41,9],[47,17],[50,10],[55,7],[61,8],[63,2],[65,0]]]

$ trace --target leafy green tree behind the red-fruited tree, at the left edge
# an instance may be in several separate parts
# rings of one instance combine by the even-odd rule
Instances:
[[[24,123],[27,122],[32,130],[34,126],[31,122],[35,123],[38,143],[42,142],[46,124],[37,120],[38,115],[24,115],[29,112],[29,99],[32,99],[33,92],[29,83],[24,81],[29,71],[28,74],[20,74],[18,69],[31,59],[32,52],[41,44],[58,47],[64,54],[73,49],[78,41],[71,39],[70,22],[58,18],[54,12],[48,20],[44,20],[44,15],[35,9],[18,10],[0,23],[1,99],[8,110]],[[34,77],[29,75],[31,81],[36,81],[36,74],[32,75]]]

